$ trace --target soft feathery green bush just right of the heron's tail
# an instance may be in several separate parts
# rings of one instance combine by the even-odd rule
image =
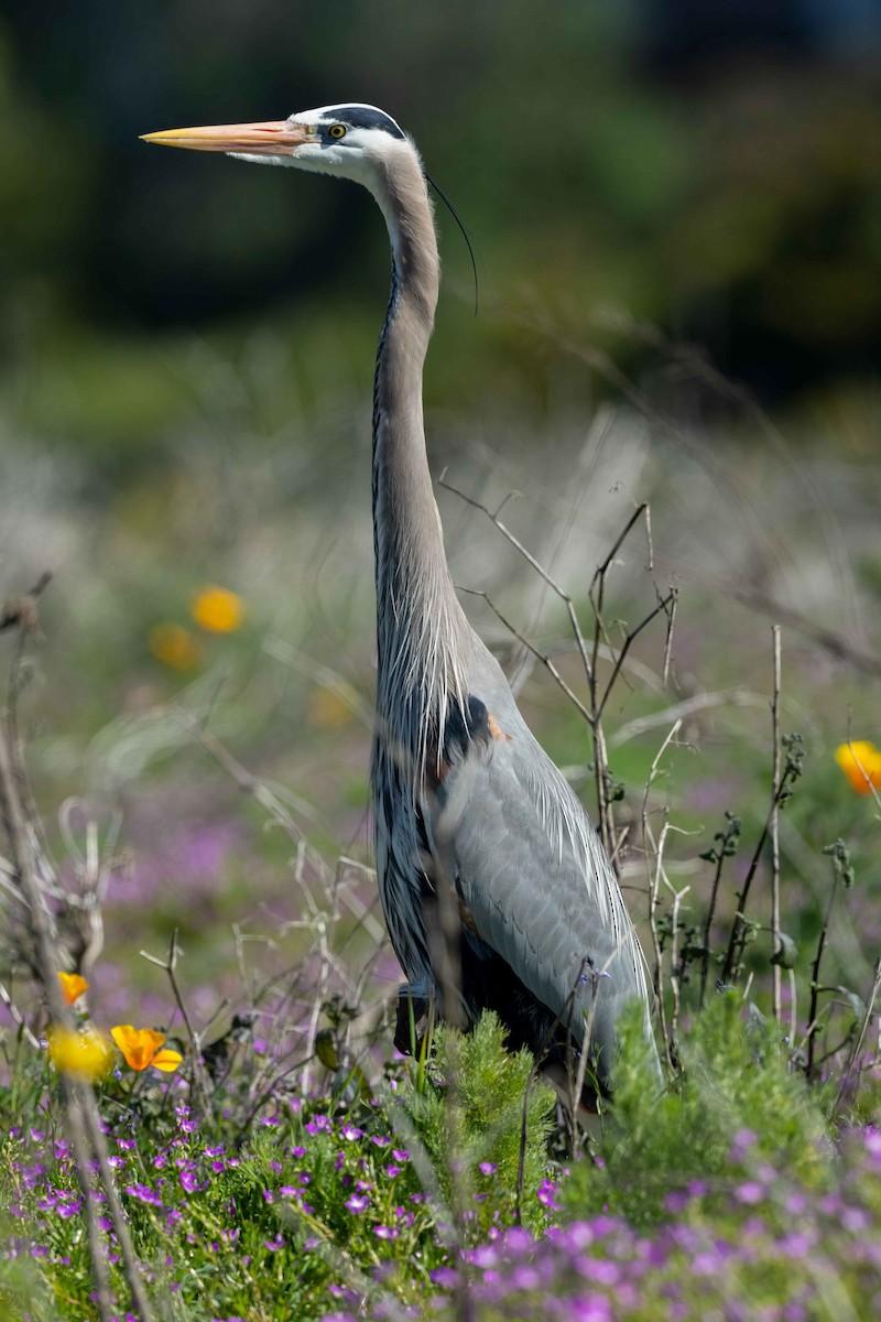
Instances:
[[[659,1096],[641,1034],[634,1017],[622,1034],[602,1165],[576,1166],[565,1186],[569,1211],[608,1207],[650,1223],[671,1190],[695,1179],[729,1182],[762,1161],[808,1187],[828,1179],[816,1099],[793,1073],[774,1026],[757,1013],[744,1022],[740,994],[717,995],[695,1018],[678,1043],[682,1073]]]

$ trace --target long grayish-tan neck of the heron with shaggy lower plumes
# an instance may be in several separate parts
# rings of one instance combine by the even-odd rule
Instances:
[[[425,455],[423,364],[440,263],[428,190],[409,143],[395,144],[375,189],[392,246],[388,315],[374,383],[374,546],[378,718],[415,772],[439,752],[466,693],[469,627],[456,599]]]

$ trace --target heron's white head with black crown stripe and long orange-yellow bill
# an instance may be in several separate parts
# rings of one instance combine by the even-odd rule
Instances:
[[[388,152],[409,139],[375,106],[345,104],[304,110],[288,119],[256,124],[213,124],[144,134],[144,141],[225,152],[259,165],[295,165],[322,175],[354,178],[370,186]]]

